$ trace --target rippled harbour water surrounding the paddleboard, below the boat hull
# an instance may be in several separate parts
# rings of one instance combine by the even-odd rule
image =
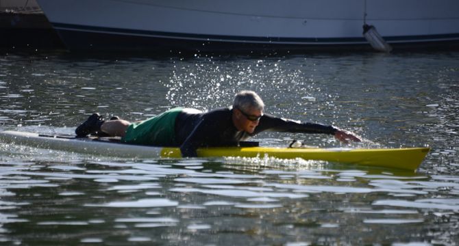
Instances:
[[[276,159],[118,159],[0,143],[4,245],[458,245],[459,53],[0,57],[0,130],[73,133],[99,111],[266,112],[430,146],[417,173]],[[321,135],[262,133],[336,147]]]

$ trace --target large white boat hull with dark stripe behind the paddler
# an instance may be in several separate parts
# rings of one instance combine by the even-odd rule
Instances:
[[[457,0],[38,0],[70,49],[308,49],[459,40]],[[366,10],[365,10],[366,9]],[[284,48],[283,48],[284,47]]]

